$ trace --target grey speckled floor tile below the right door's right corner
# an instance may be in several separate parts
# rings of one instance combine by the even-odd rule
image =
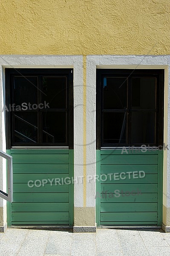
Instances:
[[[139,231],[142,240],[146,246],[169,246],[164,236],[160,232]]]

